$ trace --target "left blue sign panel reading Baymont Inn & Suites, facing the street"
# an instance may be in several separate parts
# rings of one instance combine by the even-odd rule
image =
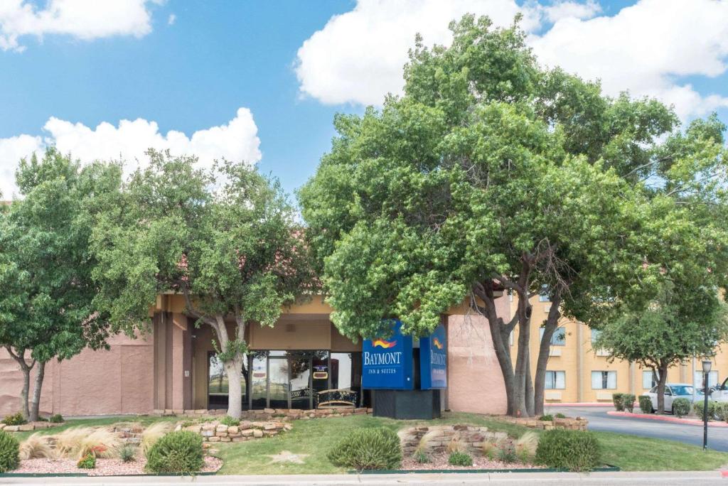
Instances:
[[[362,388],[414,389],[412,336],[403,336],[397,321],[391,338],[365,339],[362,346]]]

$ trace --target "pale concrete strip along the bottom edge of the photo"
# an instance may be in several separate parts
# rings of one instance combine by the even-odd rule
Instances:
[[[596,472],[577,473],[490,473],[490,474],[332,474],[295,476],[198,476],[198,477],[56,477],[0,478],[8,485],[728,485],[719,471],[697,472]]]

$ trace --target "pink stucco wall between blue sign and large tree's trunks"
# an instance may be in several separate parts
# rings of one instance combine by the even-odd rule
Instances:
[[[496,303],[506,319],[507,297]],[[456,412],[506,412],[503,376],[483,316],[448,316],[448,407]]]

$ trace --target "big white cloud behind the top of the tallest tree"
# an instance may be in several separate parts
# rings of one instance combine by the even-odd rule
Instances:
[[[381,105],[387,92],[402,90],[402,66],[417,31],[427,45],[448,44],[448,22],[466,12],[508,25],[520,11],[541,63],[601,79],[609,95],[628,89],[636,96],[659,97],[674,103],[683,119],[728,106],[727,97],[698,92],[680,81],[681,76],[727,71],[728,0],[640,0],[612,17],[595,17],[600,7],[594,0],[524,5],[510,0],[358,0],[352,11],[331,17],[298,49],[301,94],[328,104]]]

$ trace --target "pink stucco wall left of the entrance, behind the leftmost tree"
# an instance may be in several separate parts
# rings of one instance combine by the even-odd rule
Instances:
[[[41,413],[69,416],[151,413],[154,409],[153,338],[130,339],[118,335],[109,344],[109,351],[85,350],[73,359],[53,361],[46,366]],[[22,386],[20,367],[7,351],[0,349],[0,415],[20,409]]]

